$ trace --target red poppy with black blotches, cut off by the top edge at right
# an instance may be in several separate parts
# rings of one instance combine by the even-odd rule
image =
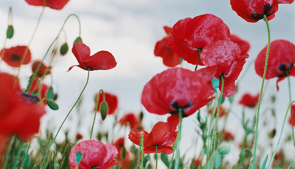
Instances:
[[[294,0],[231,0],[231,9],[247,22],[257,22],[266,15],[267,20],[275,17],[279,4],[291,4]]]

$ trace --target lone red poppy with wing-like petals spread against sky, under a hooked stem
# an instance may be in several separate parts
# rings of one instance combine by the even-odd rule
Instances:
[[[102,50],[90,56],[90,48],[82,42],[74,43],[72,53],[75,55],[79,63],[74,66],[78,66],[86,71],[88,71],[88,68],[90,68],[90,71],[109,70],[117,65],[112,53],[109,53],[108,51]],[[71,66],[68,71],[74,66]]]

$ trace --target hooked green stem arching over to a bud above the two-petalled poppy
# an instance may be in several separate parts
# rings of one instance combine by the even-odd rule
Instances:
[[[67,20],[68,20],[69,17],[71,17],[71,16],[75,16],[75,17],[78,19],[78,22],[79,22],[79,36],[80,36],[80,34],[81,34],[80,20],[79,20],[79,18],[78,18],[77,15],[75,15],[75,14],[71,14],[71,15],[69,15],[69,16],[66,18],[66,20],[64,21],[64,24],[61,26],[61,30],[60,30],[59,33],[57,34],[57,37],[56,37],[56,38],[53,40],[53,42],[50,44],[50,46],[49,46],[49,48],[47,49],[45,55],[43,56],[41,62],[39,63],[39,65],[38,65],[36,71],[31,75],[31,77],[30,77],[30,79],[29,79],[29,84],[28,84],[28,86],[26,87],[25,92],[28,92],[29,89],[31,88],[32,81],[33,81],[33,79],[35,78],[37,72],[39,71],[39,69],[40,69],[40,67],[41,67],[41,64],[43,63],[44,59],[46,58],[47,53],[49,52],[49,50],[50,50],[50,48],[52,47],[52,45],[54,44],[54,42],[58,39],[59,35],[61,34],[62,29],[64,28],[64,25],[66,24]]]

